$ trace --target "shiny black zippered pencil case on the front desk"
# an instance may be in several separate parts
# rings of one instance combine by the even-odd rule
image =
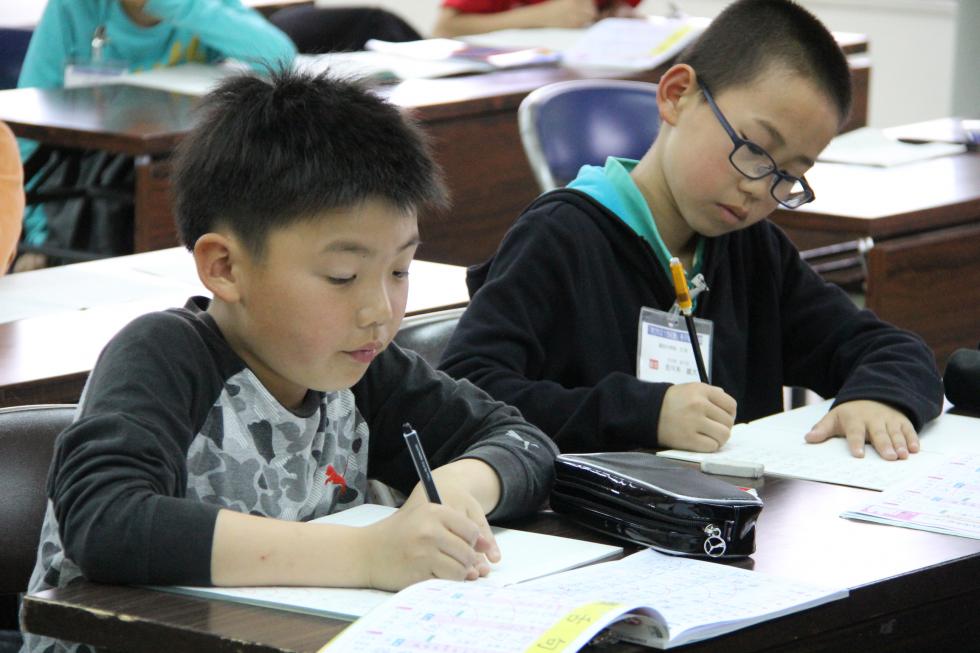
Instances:
[[[551,509],[664,553],[739,558],[755,551],[762,500],[649,453],[561,454]]]

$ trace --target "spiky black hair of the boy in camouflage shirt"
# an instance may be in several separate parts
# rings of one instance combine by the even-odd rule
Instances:
[[[269,232],[380,199],[410,214],[446,191],[421,130],[361,83],[290,70],[242,74],[198,106],[173,159],[181,242],[226,226],[260,258]]]

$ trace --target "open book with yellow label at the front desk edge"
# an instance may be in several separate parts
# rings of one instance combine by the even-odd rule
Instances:
[[[647,549],[509,587],[419,583],[349,626],[322,651],[577,651],[607,627],[624,641],[671,648],[847,594],[843,588]]]

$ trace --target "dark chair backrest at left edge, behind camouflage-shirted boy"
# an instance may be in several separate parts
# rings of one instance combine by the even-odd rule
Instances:
[[[0,408],[0,594],[27,589],[54,440],[74,415],[73,404]]]

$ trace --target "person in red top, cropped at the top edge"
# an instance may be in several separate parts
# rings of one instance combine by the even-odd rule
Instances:
[[[588,27],[629,16],[641,0],[443,0],[433,36],[482,34],[526,27]]]

